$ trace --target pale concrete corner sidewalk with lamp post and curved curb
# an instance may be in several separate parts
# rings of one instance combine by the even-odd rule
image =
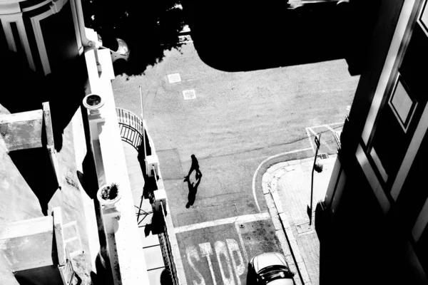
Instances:
[[[263,175],[263,193],[267,204],[273,204],[270,207],[272,218],[279,217],[287,239],[286,246],[292,255],[287,262],[290,268],[296,267],[298,271],[296,284],[320,284],[320,241],[315,232],[315,207],[325,197],[336,157],[330,155],[320,159],[323,170],[314,172],[311,225],[307,207],[314,158],[280,162],[267,168]]]

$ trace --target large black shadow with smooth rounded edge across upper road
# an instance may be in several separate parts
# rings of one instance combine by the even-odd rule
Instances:
[[[378,1],[355,0],[288,9],[287,1],[183,0],[200,58],[221,71],[252,71],[352,58],[360,71]],[[364,16],[363,16],[364,15]],[[368,37],[366,37],[368,36]],[[349,61],[350,62],[350,61]]]

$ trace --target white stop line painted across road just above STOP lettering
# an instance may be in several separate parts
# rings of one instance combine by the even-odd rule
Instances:
[[[258,213],[258,214],[245,214],[238,217],[230,217],[225,219],[216,219],[215,221],[202,222],[199,224],[188,224],[187,226],[175,227],[174,232],[178,234],[180,232],[193,231],[195,229],[204,229],[205,227],[215,227],[221,224],[243,224],[246,222],[257,222],[263,219],[270,219],[269,212]]]

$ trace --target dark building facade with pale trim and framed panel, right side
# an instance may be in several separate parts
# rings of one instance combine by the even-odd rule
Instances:
[[[427,64],[427,0],[380,1],[325,197],[334,284],[428,284]]]

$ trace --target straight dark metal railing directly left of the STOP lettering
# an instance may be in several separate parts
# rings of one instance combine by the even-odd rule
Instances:
[[[158,236],[159,236],[159,243],[161,244],[163,260],[165,263],[165,267],[170,274],[172,284],[178,285],[180,283],[178,282],[178,274],[177,274],[177,269],[175,268],[173,249],[171,248],[168,227],[165,220],[165,209],[163,209],[162,203],[161,203],[161,214],[163,219],[163,231],[160,234],[158,234]]]

